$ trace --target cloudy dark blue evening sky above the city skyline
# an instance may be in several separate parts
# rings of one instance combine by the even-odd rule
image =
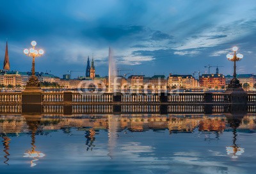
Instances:
[[[8,38],[12,70],[31,70],[22,51],[36,40],[45,50],[36,70],[59,76],[85,70],[92,54],[96,74],[106,75],[109,46],[132,74],[168,75],[204,72],[208,64],[232,74],[226,54],[236,45],[244,54],[238,73],[255,73],[255,16],[254,0],[1,1],[1,67]]]

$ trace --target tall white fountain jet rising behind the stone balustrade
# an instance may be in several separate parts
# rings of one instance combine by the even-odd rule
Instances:
[[[108,92],[113,93],[115,91],[116,82],[115,79],[117,77],[117,70],[116,70],[116,62],[113,58],[113,51],[109,47],[108,52]]]

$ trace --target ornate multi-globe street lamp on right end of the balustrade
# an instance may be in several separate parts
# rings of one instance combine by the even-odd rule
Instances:
[[[238,50],[237,47],[233,47],[232,50],[234,51],[234,55],[232,56],[232,54],[227,54],[227,58],[229,61],[234,61],[234,75],[230,84],[228,84],[228,88],[241,88],[242,86],[239,80],[236,78],[236,61],[243,59],[243,54],[236,54]]]

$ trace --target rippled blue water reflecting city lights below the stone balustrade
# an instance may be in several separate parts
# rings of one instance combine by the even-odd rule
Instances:
[[[255,121],[254,114],[1,115],[0,173],[254,173]]]

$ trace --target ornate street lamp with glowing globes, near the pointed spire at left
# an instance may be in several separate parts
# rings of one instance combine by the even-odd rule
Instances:
[[[24,54],[26,54],[26,56],[33,58],[32,69],[31,69],[32,75],[31,75],[31,77],[29,77],[29,81],[28,81],[26,87],[39,88],[40,83],[38,81],[38,78],[35,75],[35,58],[42,56],[44,54],[44,51],[42,49],[39,49],[39,50],[35,49],[35,46],[36,46],[35,41],[32,41],[31,45],[32,45],[32,48],[24,49]]]

